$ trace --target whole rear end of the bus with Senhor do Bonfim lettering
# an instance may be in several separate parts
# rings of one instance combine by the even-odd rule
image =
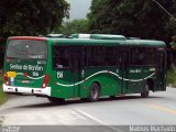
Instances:
[[[9,37],[4,57],[3,91],[51,96],[46,64],[46,38]]]

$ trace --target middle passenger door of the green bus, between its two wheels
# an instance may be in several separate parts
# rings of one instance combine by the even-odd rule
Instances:
[[[128,78],[129,78],[129,52],[123,51],[119,54],[119,80],[121,94],[128,92]]]

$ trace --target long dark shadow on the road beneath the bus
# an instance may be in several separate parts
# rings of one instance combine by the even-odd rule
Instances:
[[[52,102],[43,102],[43,103],[35,103],[35,105],[25,105],[25,106],[19,106],[13,109],[25,109],[25,108],[50,108],[50,107],[64,107],[64,106],[72,106],[72,105],[90,105],[90,103],[99,103],[99,102],[110,102],[110,101],[123,101],[123,100],[135,100],[135,99],[153,99],[153,98],[163,98],[163,97],[148,97],[148,98],[141,98],[140,96],[120,96],[120,97],[113,97],[113,98],[100,98],[99,101],[96,102],[89,102],[84,101],[80,99],[73,99],[73,100],[66,100],[63,103],[52,103]]]

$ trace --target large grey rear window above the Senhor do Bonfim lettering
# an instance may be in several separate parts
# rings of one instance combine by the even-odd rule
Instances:
[[[21,59],[46,59],[47,46],[43,41],[33,40],[10,40],[7,50],[7,57]]]

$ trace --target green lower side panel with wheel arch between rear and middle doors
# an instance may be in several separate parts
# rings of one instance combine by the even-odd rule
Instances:
[[[100,96],[112,96],[120,90],[118,89],[118,79],[116,76],[117,68],[85,68],[85,75],[81,77],[84,82],[81,85],[80,97],[88,97],[89,88],[92,82],[97,82],[100,87]]]

